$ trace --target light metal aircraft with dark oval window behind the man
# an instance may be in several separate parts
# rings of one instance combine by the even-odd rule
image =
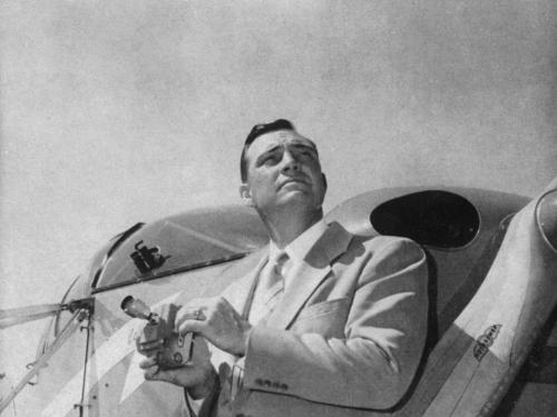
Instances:
[[[429,332],[405,397],[385,416],[553,416],[557,408],[557,179],[538,197],[456,187],[371,190],[325,216],[356,235],[419,242]],[[182,390],[145,381],[120,308],[218,295],[267,242],[244,206],[196,209],[115,236],[53,305],[0,311],[0,329],[50,317],[2,416],[178,416]]]

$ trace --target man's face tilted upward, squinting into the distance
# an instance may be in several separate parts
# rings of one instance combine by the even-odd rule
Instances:
[[[312,141],[292,130],[256,138],[247,149],[246,203],[272,212],[285,207],[321,209],[326,183]]]

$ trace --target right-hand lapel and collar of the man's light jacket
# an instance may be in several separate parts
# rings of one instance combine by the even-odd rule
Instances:
[[[285,329],[292,324],[305,301],[331,272],[332,261],[346,251],[351,239],[352,235],[339,224],[329,225],[304,261],[292,269],[294,282],[286,288],[283,301],[268,316],[268,327]]]

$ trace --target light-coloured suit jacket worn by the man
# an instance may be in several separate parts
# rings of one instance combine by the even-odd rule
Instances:
[[[245,317],[267,255],[265,248],[246,258],[253,269],[224,294]],[[370,416],[407,391],[427,334],[421,248],[402,238],[353,236],[332,224],[304,260],[265,326],[253,329],[234,400],[229,367],[221,366],[221,391],[207,399],[214,400],[211,414]]]

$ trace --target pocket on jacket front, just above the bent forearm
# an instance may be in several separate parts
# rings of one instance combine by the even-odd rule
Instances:
[[[350,299],[338,298],[307,306],[300,311],[291,330],[297,334],[316,332],[324,337],[344,338]]]

